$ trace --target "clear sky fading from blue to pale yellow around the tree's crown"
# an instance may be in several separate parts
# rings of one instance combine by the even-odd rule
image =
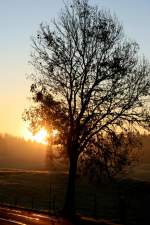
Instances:
[[[90,0],[110,9],[125,33],[140,45],[150,60],[149,0]],[[31,36],[41,22],[57,18],[63,0],[0,0],[0,133],[25,135],[21,114],[30,104],[29,81]]]

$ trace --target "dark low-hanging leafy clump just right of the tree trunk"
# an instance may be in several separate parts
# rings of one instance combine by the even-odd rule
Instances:
[[[142,155],[142,137],[133,132],[97,135],[79,157],[78,172],[90,181],[102,183],[124,177]]]

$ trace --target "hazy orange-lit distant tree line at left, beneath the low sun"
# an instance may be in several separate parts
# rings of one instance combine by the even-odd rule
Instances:
[[[9,134],[0,134],[0,168],[45,169],[46,147]]]

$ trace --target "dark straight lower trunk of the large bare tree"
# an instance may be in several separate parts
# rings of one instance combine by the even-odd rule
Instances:
[[[78,160],[77,156],[70,157],[68,186],[64,205],[64,213],[68,217],[74,217],[76,212],[75,184],[76,184],[77,160]]]

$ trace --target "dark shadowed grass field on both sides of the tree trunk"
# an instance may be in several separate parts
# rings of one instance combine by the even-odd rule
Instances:
[[[26,208],[59,211],[64,203],[66,184],[66,173],[1,170],[0,202]],[[77,180],[76,193],[77,211],[83,215],[114,222],[119,222],[120,217],[125,216],[131,225],[147,225],[143,221],[148,219],[147,210],[150,202],[148,182],[128,179],[109,185],[92,185],[82,178]],[[123,196],[123,201],[120,196]],[[124,215],[120,211],[121,208]]]

